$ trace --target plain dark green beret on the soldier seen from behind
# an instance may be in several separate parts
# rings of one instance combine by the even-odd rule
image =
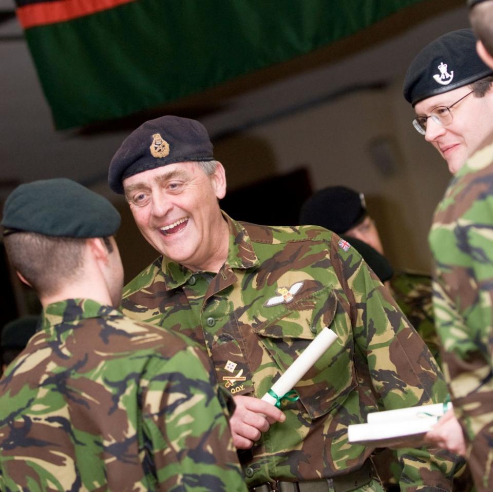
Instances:
[[[66,178],[17,186],[7,197],[4,234],[37,232],[64,238],[104,238],[120,227],[120,214],[98,193]]]

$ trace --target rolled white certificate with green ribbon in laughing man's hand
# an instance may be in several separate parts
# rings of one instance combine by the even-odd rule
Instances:
[[[312,367],[324,352],[335,342],[337,335],[325,327],[318,333],[308,347],[301,352],[300,356],[288,367],[285,373],[274,383],[272,388],[262,397],[264,402],[280,406],[283,397],[289,398],[289,393],[298,381],[305,376],[308,369]],[[291,395],[292,393],[290,393]],[[276,398],[277,397],[277,398]]]

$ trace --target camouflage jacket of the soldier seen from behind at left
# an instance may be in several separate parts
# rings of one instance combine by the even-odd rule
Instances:
[[[180,334],[50,304],[0,380],[0,489],[245,492],[217,389]]]

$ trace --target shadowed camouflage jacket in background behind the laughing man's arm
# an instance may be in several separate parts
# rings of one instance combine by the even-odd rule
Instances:
[[[390,279],[390,293],[440,366],[440,342],[433,319],[431,275],[409,270],[396,271]]]

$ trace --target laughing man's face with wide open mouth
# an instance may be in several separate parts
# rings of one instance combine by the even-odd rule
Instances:
[[[168,164],[126,178],[123,188],[142,235],[168,259],[197,271],[227,255],[217,202],[226,191],[220,163],[210,176],[195,162]]]

